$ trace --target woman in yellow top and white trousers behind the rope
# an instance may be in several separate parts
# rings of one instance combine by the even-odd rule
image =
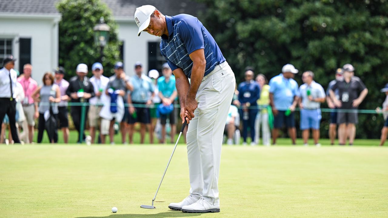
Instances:
[[[260,126],[262,127],[263,132],[263,145],[271,145],[271,130],[268,123],[268,109],[269,106],[269,85],[267,85],[268,80],[263,74],[258,74],[256,76],[256,82],[260,87],[260,99],[257,100],[257,105],[260,107],[260,110],[257,113],[255,121],[255,143],[260,143]]]

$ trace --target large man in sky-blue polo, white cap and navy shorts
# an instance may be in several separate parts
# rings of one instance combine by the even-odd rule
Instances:
[[[292,144],[296,144],[296,129],[294,111],[298,102],[298,83],[293,79],[298,70],[292,64],[282,68],[282,74],[269,81],[269,98],[274,114],[274,130],[272,131],[272,144],[276,144],[279,129],[285,123]]]

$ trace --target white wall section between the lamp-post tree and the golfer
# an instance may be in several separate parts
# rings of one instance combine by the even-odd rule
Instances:
[[[160,42],[160,37],[142,33],[137,36],[138,27],[135,21],[117,20],[119,25],[118,38],[124,41],[124,70],[126,74],[133,75],[135,62],[143,64],[143,73],[148,73],[148,42]]]

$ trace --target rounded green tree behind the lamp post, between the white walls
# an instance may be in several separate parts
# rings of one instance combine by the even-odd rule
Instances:
[[[109,8],[100,0],[62,0],[57,4],[62,14],[59,22],[59,65],[66,69],[66,78],[75,75],[76,66],[85,63],[91,67],[100,62],[100,48],[94,43],[94,26],[104,17],[111,28],[109,42],[104,47],[102,65],[109,75],[120,57],[117,24]],[[91,73],[88,74],[89,76]]]

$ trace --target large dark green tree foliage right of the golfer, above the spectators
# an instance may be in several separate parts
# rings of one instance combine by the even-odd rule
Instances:
[[[246,66],[268,79],[291,63],[300,73],[315,73],[327,87],[336,68],[355,67],[369,89],[361,109],[381,107],[379,90],[388,82],[388,3],[386,0],[198,0],[207,10],[199,16],[212,33],[238,82]],[[326,104],[322,105],[326,107]],[[378,138],[383,118],[360,114],[357,137]],[[329,114],[321,133],[327,137]],[[376,120],[375,120],[376,119]]]

